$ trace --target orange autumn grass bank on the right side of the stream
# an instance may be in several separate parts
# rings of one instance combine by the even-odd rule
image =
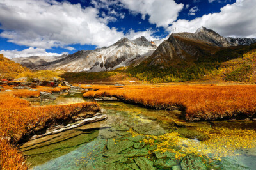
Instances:
[[[189,121],[255,118],[256,86],[175,85],[113,86],[88,91],[83,97],[116,97],[154,109],[181,109]]]

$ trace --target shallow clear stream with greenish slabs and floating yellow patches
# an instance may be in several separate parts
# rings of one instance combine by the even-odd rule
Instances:
[[[61,95],[40,105],[84,102]],[[89,100],[86,100],[89,101]],[[180,111],[98,102],[108,119],[20,146],[33,169],[255,169],[256,122],[188,123]]]

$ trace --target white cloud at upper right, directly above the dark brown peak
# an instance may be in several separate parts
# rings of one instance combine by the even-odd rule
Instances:
[[[169,29],[176,27],[180,32],[195,32],[198,27],[204,26],[223,36],[255,38],[255,6],[255,0],[237,0],[221,8],[219,13],[210,13],[193,20],[177,20]]]

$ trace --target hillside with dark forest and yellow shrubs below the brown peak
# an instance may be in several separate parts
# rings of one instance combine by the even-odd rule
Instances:
[[[164,63],[150,65],[148,58],[140,65],[128,68],[127,75],[150,83],[184,82],[194,80],[253,82],[255,75],[256,43],[248,46],[205,49],[196,45],[200,52],[195,58],[174,58]]]

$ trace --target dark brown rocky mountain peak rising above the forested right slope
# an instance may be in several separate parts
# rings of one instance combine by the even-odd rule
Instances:
[[[150,65],[173,63],[180,59],[196,60],[205,54],[216,52],[219,47],[250,45],[252,38],[225,38],[211,29],[202,27],[195,33],[173,33],[150,56]]]

